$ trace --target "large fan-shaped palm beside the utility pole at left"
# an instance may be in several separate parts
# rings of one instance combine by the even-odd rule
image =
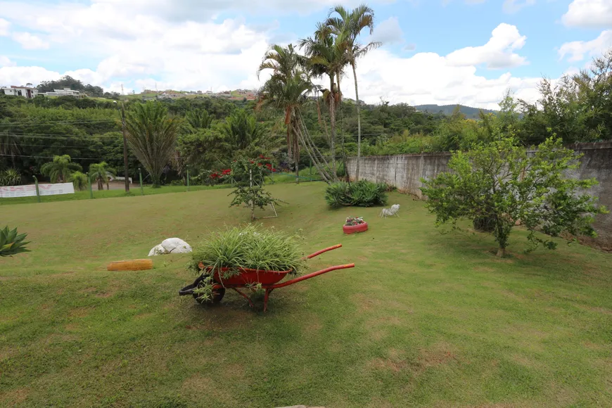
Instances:
[[[160,186],[162,171],[174,152],[178,123],[158,102],[138,103],[127,114],[125,127],[129,147],[151,174],[155,188]]]

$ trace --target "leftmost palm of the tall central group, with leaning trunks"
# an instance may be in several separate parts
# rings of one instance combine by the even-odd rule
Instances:
[[[271,106],[282,110],[287,127],[287,144],[293,153],[295,162],[296,181],[299,181],[298,162],[300,160],[300,142],[310,156],[315,167],[325,181],[335,181],[335,173],[329,174],[327,162],[317,146],[312,142],[310,135],[302,120],[302,107],[308,101],[308,94],[316,89],[310,76],[302,70],[303,58],[298,56],[293,46],[283,49],[273,46],[266,53],[260,71],[271,69],[272,76],[265,82],[260,90],[260,100],[257,109],[262,106]]]

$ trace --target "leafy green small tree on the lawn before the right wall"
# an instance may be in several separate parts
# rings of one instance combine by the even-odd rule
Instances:
[[[540,238],[567,232],[574,236],[595,236],[594,215],[606,208],[597,198],[582,193],[597,184],[595,179],[565,177],[566,170],[578,167],[574,151],[563,148],[560,139],[549,138],[535,153],[516,145],[514,138],[480,144],[466,153],[453,153],[452,172],[432,180],[421,180],[427,208],[436,215],[436,224],[459,219],[486,219],[499,244],[497,256],[506,253],[512,227],[523,224],[529,231],[533,250],[542,243],[549,249],[556,243]]]

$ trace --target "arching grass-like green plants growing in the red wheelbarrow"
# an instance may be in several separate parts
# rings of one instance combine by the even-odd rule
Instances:
[[[193,248],[188,269],[199,273],[199,264],[217,268],[249,268],[301,272],[305,260],[295,236],[253,225],[208,234]]]

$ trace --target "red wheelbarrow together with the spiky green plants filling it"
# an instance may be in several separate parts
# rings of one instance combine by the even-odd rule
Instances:
[[[253,296],[241,289],[248,289],[252,293],[263,291],[265,312],[269,295],[274,289],[336,269],[355,267],[355,264],[338,265],[281,282],[288,275],[302,272],[307,259],[340,247],[325,248],[302,257],[295,237],[279,231],[253,226],[220,231],[196,246],[188,268],[195,270],[199,276],[191,285],[182,288],[179,295],[193,295],[200,303],[218,303],[229,288],[254,307]]]

